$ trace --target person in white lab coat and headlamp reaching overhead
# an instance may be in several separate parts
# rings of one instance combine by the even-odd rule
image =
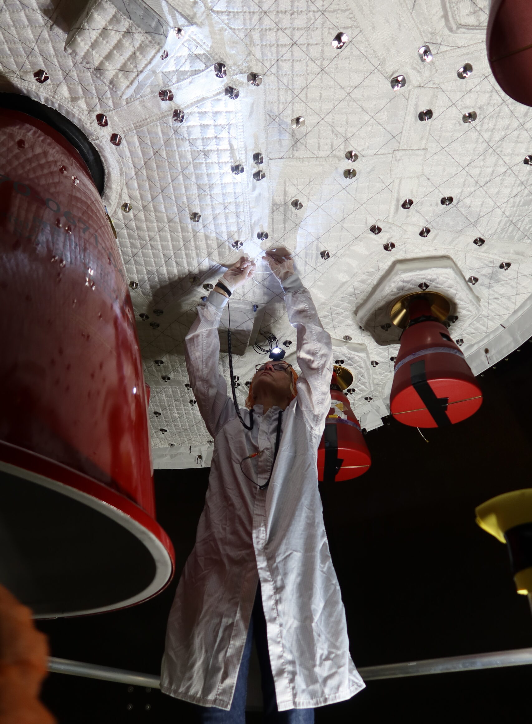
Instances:
[[[244,257],[199,306],[186,337],[188,376],[215,446],[196,544],[168,619],[161,689],[198,705],[203,723],[244,724],[252,636],[268,724],[311,724],[315,707],[365,686],[349,655],[317,487],[331,337],[288,252],[264,258],[296,328],[299,379],[286,363],[259,366],[241,424],[218,371],[217,327],[231,292],[253,274]]]

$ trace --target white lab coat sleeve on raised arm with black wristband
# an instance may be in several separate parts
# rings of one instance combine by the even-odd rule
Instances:
[[[185,337],[188,379],[201,417],[213,438],[230,417],[232,408],[232,400],[227,394],[227,383],[218,371],[218,326],[227,301],[227,297],[218,292],[210,292],[205,304],[198,307],[196,321]]]

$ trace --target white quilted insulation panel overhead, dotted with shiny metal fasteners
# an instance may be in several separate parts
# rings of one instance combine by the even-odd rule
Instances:
[[[58,109],[101,154],[156,467],[209,464],[183,339],[241,253],[294,253],[367,430],[388,414],[398,345],[356,311],[397,261],[426,260],[407,287],[451,295],[431,259],[454,261],[471,290],[455,298],[450,334],[475,374],[531,336],[532,110],[491,76],[487,11],[488,0],[0,0],[0,90]],[[239,324],[256,331],[259,313],[293,360],[262,262],[233,299]],[[251,347],[235,358],[242,404],[262,359]]]

